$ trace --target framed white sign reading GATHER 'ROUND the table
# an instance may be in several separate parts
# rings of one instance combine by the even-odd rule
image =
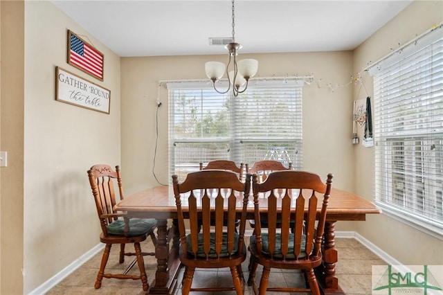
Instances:
[[[55,100],[109,114],[111,91],[55,66]]]

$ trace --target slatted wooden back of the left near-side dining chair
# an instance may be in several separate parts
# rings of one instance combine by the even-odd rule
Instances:
[[[219,258],[224,247],[227,247],[228,253],[233,252],[234,235],[237,234],[235,231],[236,213],[239,211],[237,210],[238,194],[243,196],[243,207],[238,244],[235,246],[237,249],[242,249],[251,182],[239,181],[235,172],[224,170],[191,172],[181,184],[177,175],[172,175],[172,179],[183,253],[192,252],[197,257],[197,252],[204,251],[206,259],[210,259],[211,255]],[[188,213],[188,217],[183,213]],[[189,220],[189,226],[184,222],[185,219]],[[202,221],[201,231],[199,231],[199,220]],[[215,221],[214,226],[211,226],[211,220]],[[190,233],[192,249],[188,249],[190,246],[186,238],[188,233]],[[226,244],[223,244],[224,235],[227,235]],[[215,238],[215,249],[210,249],[211,236]],[[204,241],[203,249],[198,247],[198,241],[201,238]]]

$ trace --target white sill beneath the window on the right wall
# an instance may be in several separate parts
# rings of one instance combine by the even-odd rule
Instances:
[[[427,233],[428,235],[433,236],[434,238],[437,238],[439,240],[443,240],[443,228],[442,226],[439,226],[438,224],[431,224],[430,222],[426,220],[421,220],[418,217],[413,216],[410,213],[406,213],[404,211],[400,211],[397,208],[392,208],[390,206],[387,206],[384,203],[381,202],[375,202],[377,206],[381,208],[383,211],[383,214],[389,217],[392,217],[393,219],[407,224],[408,226],[413,227],[414,229],[417,229],[418,231],[422,231],[423,233]]]

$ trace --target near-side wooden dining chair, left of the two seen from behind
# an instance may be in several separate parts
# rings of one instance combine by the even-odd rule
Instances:
[[[227,292],[243,294],[242,262],[246,259],[244,230],[246,206],[251,188],[250,175],[239,181],[235,172],[201,170],[191,172],[179,184],[172,175],[180,235],[179,258],[185,266],[182,294],[191,291]],[[237,202],[237,197],[242,202]],[[236,213],[241,211],[239,231],[235,231]],[[199,231],[199,220],[203,220]],[[211,226],[210,220],[215,221]],[[224,226],[224,220],[227,220]],[[192,287],[197,268],[229,267],[233,287]]]

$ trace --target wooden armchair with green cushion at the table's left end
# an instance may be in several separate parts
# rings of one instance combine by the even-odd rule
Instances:
[[[147,291],[149,285],[147,283],[143,256],[155,254],[142,252],[140,243],[145,241],[149,235],[154,246],[156,245],[156,237],[154,235],[156,220],[141,218],[129,219],[125,212],[114,211],[114,206],[116,202],[118,202],[117,197],[119,197],[120,200],[124,198],[119,166],[116,166],[115,171],[112,170],[109,165],[100,164],[92,166],[91,169],[88,170],[88,177],[92,194],[96,201],[98,219],[100,220],[100,226],[102,228],[100,242],[106,244],[94,287],[96,289],[100,288],[103,278],[120,278],[141,280],[143,290]],[[118,195],[114,192],[114,187],[118,188]],[[105,267],[113,244],[120,244],[120,263],[125,262],[125,256],[136,256],[136,260],[127,267],[123,274],[105,274]],[[135,251],[126,252],[126,244],[134,244]],[[138,263],[138,269],[140,269],[140,276],[129,275],[129,270],[136,262]]]

